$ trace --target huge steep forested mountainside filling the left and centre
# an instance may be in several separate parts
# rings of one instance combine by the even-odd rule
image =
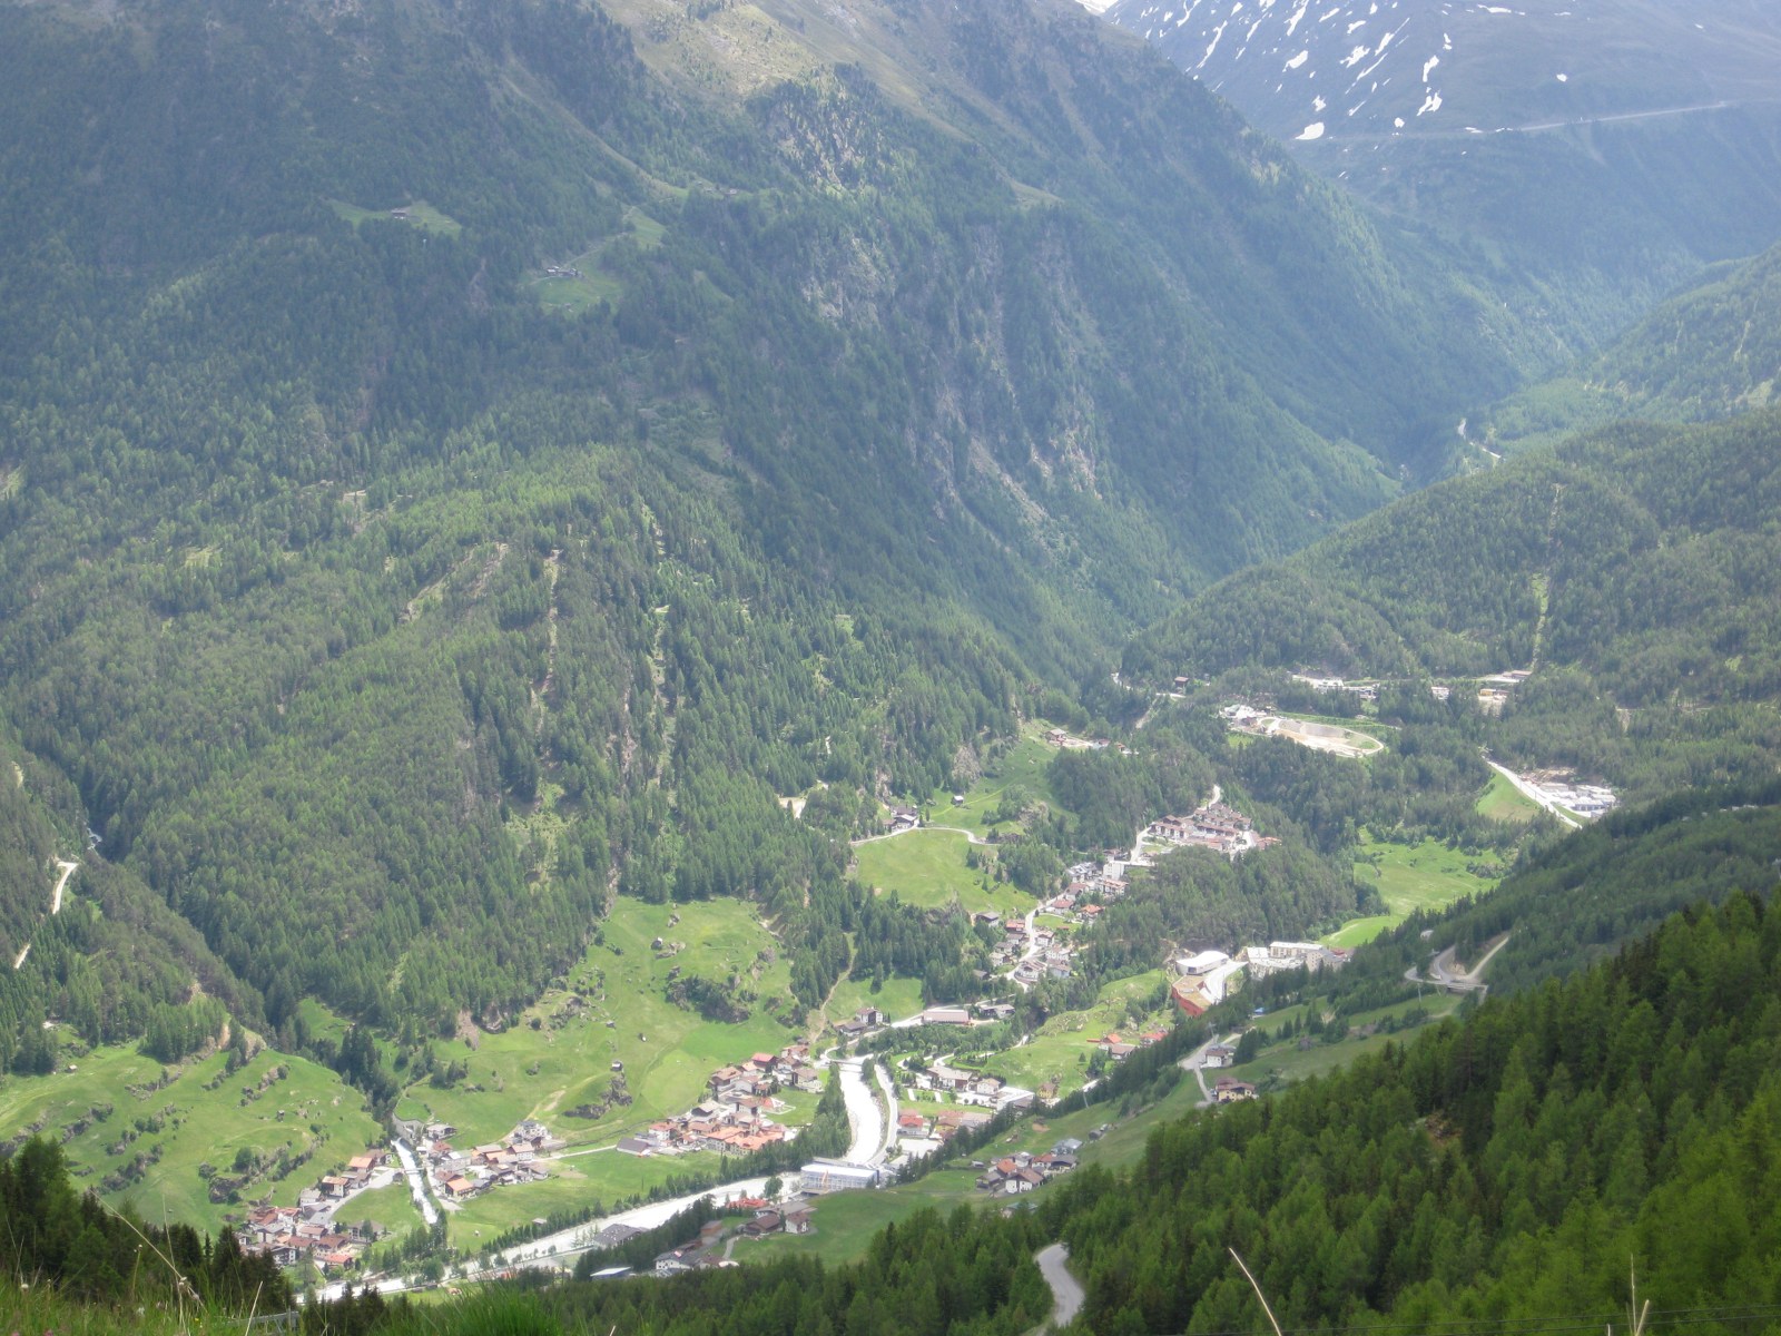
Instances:
[[[817,11],[707,87],[725,7],[620,7],[654,66],[556,2],[0,9],[0,1028],[497,1021],[614,891],[757,900],[809,1005],[862,798],[1537,342],[1078,11]]]

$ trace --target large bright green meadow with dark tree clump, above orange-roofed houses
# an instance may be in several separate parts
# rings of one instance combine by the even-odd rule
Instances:
[[[675,916],[679,923],[670,921]],[[570,971],[570,989],[545,992],[508,1031],[483,1035],[476,1051],[461,1040],[442,1042],[440,1060],[468,1063],[468,1078],[449,1090],[417,1081],[399,1113],[438,1117],[468,1142],[493,1140],[536,1117],[572,1145],[609,1145],[634,1128],[684,1113],[716,1067],[796,1039],[771,1014],[784,1010],[791,994],[791,965],[752,907],[737,900],[679,907],[620,900],[604,935],[606,942]],[[684,949],[657,953],[657,937],[664,951],[673,942]],[[746,1003],[750,1017],[720,1024],[668,1001],[673,969],[714,982],[746,978],[757,994]],[[573,996],[586,1010],[568,1017]],[[613,1062],[623,1063],[632,1103],[598,1120],[566,1117],[572,1108],[604,1103]]]

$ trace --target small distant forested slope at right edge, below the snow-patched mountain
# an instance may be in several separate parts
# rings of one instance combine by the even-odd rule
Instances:
[[[1781,381],[1781,248],[1715,269],[1578,367],[1469,415],[1457,456],[1546,445],[1615,419],[1699,422],[1763,408]]]

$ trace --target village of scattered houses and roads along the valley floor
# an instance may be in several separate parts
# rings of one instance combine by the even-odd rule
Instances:
[[[1480,709],[1492,709],[1496,697],[1491,693],[1514,691],[1514,677],[1501,675],[1487,682],[1480,691]],[[1341,679],[1304,680],[1320,691],[1354,693],[1359,700],[1377,695],[1378,686]],[[1441,688],[1435,691],[1439,695]],[[1284,737],[1354,759],[1364,759],[1384,746],[1378,730],[1293,718],[1247,702],[1229,702],[1220,714],[1234,734]],[[1040,745],[1047,752],[1129,752],[1124,745],[1078,737],[1061,729],[1042,732]],[[1037,770],[1042,761],[1042,754],[1035,754],[1028,764]],[[1564,773],[1517,778],[1530,787],[1542,787],[1549,802],[1582,818],[1598,816],[1615,802],[1610,791],[1578,784]],[[972,802],[983,800],[953,794],[951,809],[969,818],[967,807]],[[930,821],[926,809],[890,805],[885,809],[883,834],[876,839],[901,844],[924,837],[964,837],[960,851],[969,853],[972,844],[988,843],[974,834],[980,828],[946,827]],[[1245,980],[1345,965],[1350,948],[1316,941],[1229,944],[1229,949],[1211,944],[1181,949],[1165,942],[1167,958],[1158,962],[1152,974],[1161,978],[1161,992],[1156,994],[1163,999],[1161,1005],[1138,1003],[1136,994],[1127,990],[1126,996],[1133,1001],[1086,1012],[1074,1021],[1056,1017],[1061,1024],[1047,1022],[1042,1033],[1013,1039],[1012,1047],[994,1047],[997,1042],[1010,1042],[997,1040],[997,1035],[1013,1037],[1008,1022],[1021,1008],[1022,994],[1076,978],[1085,939],[1097,919],[1131,894],[1134,878],[1143,876],[1158,859],[1177,850],[1204,850],[1234,862],[1277,843],[1275,835],[1257,830],[1254,819],[1215,786],[1191,811],[1149,819],[1134,832],[1129,850],[1106,850],[1076,862],[1060,876],[1056,889],[1026,905],[1019,898],[1010,903],[1004,894],[969,908],[974,933],[980,942],[988,942],[987,971],[980,971],[980,980],[1001,983],[1001,996],[990,990],[988,998],[956,1005],[917,1005],[903,1015],[862,1001],[851,1012],[825,1017],[821,1028],[801,1039],[714,1067],[705,1078],[702,1097],[682,1112],[648,1117],[616,1135],[609,1145],[573,1153],[609,1151],[638,1160],[716,1154],[746,1163],[753,1153],[796,1142],[800,1124],[809,1117],[809,1101],[794,1108],[787,1099],[821,1096],[830,1081],[842,1079],[853,1128],[848,1154],[812,1156],[803,1160],[801,1169],[784,1170],[775,1179],[773,1195],[730,1192],[725,1210],[732,1217],[741,1213],[744,1222],[739,1227],[734,1222],[711,1222],[700,1238],[657,1256],[654,1270],[673,1274],[693,1267],[736,1265],[730,1254],[737,1240],[814,1233],[819,1224],[816,1202],[825,1193],[883,1186],[917,1163],[944,1163],[956,1156],[951,1147],[960,1136],[967,1136],[967,1144],[976,1147],[992,1120],[1010,1110],[1044,1113],[1047,1106],[1058,1108],[1058,1101],[1074,1097],[1072,1092],[1092,1088],[1101,1079],[1099,1074],[1168,1039],[1170,1015],[1206,1015],[1234,996]],[[873,839],[857,844],[873,844]],[[976,868],[978,862],[971,866]],[[892,878],[892,885],[907,892],[907,884]],[[990,887],[990,882],[985,878],[980,885]],[[978,898],[983,898],[981,889]],[[953,912],[960,908],[955,896]],[[670,925],[677,919],[673,916]],[[661,937],[652,946],[663,948]],[[655,955],[663,955],[663,949]],[[1099,1015],[1113,1024],[1097,1026],[1094,1017]],[[611,1021],[606,1024],[611,1026]],[[956,1039],[947,1039],[949,1035]],[[1236,1062],[1236,1039],[1231,1035],[1229,1040],[1208,1042],[1193,1055],[1191,1067],[1197,1069],[1206,1104],[1252,1099],[1257,1094],[1252,1081],[1220,1071]],[[1047,1053],[1056,1055],[1047,1060],[1051,1067],[1040,1062],[1040,1076],[1010,1079],[1035,1069],[1037,1060],[1021,1065],[1029,1042],[1035,1044],[1035,1053],[1049,1044]],[[1076,1055],[1074,1060],[1070,1053]],[[1183,1060],[1183,1065],[1190,1063]],[[1067,1081],[1063,1069],[1070,1071]],[[1216,1076],[1208,1081],[1206,1072]],[[611,1081],[614,1090],[623,1088],[623,1062],[611,1062]],[[629,1099],[622,1097],[620,1103]],[[1102,1131],[1106,1126],[1097,1126],[1085,1129],[1083,1136],[1094,1138]],[[296,1206],[255,1206],[246,1220],[244,1245],[271,1252],[285,1265],[308,1259],[324,1272],[351,1270],[376,1242],[376,1231],[342,1224],[351,1215],[349,1202],[360,1192],[406,1183],[417,1210],[431,1222],[440,1211],[463,1210],[484,1193],[522,1192],[549,1179],[552,1161],[566,1149],[565,1140],[538,1119],[524,1119],[499,1142],[468,1149],[458,1147],[458,1129],[443,1120],[403,1122],[399,1133],[392,1149],[367,1151],[337,1172],[324,1174],[313,1188],[301,1193]],[[1081,1138],[1061,1136],[1049,1145],[1008,1153],[972,1149],[958,1165],[969,1160],[978,1192],[1013,1197],[1069,1174],[1079,1163],[1081,1151]],[[636,1233],[636,1226],[613,1218],[575,1234],[575,1249],[618,1249]],[[618,1277],[634,1274],[634,1268],[614,1265],[597,1274]]]

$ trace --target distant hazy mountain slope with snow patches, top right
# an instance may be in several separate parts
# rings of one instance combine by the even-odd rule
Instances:
[[[1781,23],[1756,0],[1118,0],[1106,18],[1302,164],[1468,239],[1574,353],[1781,237]]]

